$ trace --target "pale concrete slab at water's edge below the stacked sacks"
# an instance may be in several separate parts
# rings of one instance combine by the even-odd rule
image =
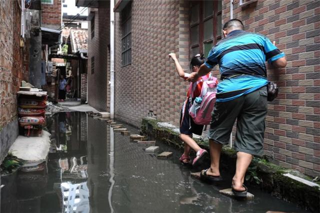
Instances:
[[[18,136],[9,152],[26,161],[28,165],[46,160],[50,148],[50,133],[42,130],[41,137]]]

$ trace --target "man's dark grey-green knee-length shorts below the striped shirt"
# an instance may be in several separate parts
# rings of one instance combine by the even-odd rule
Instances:
[[[237,119],[235,150],[261,156],[266,113],[266,86],[231,101],[216,102],[208,138],[220,144],[228,144],[233,124]]]

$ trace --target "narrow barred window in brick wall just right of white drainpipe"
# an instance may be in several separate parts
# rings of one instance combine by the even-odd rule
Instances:
[[[131,3],[121,11],[121,66],[131,64]]]

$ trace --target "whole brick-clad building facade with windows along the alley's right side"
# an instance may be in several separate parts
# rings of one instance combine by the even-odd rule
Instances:
[[[245,30],[274,40],[287,58],[286,68],[268,69],[268,79],[275,81],[280,90],[277,99],[268,105],[265,155],[285,168],[313,177],[320,175],[319,1],[233,0],[230,4],[230,0],[116,0],[114,11],[117,119],[139,126],[152,111],[159,120],[178,125],[188,83],[178,77],[167,54],[175,52],[188,71],[190,57],[207,54],[222,39],[221,26],[232,16],[243,21]],[[100,14],[100,8],[94,13]],[[100,38],[107,38],[108,17],[105,11],[106,29],[99,32],[94,21],[94,33]],[[96,58],[107,62],[108,54],[92,51],[104,51],[104,46],[95,43],[94,38],[90,45],[89,39],[88,79],[90,57],[94,57],[95,68]],[[219,77],[218,67],[212,73]],[[108,79],[107,74],[103,78]],[[102,96],[103,104],[93,106],[108,109],[108,90],[99,89],[103,82],[91,82],[95,81],[88,81],[93,94],[107,91],[106,98],[104,94],[98,96]]]

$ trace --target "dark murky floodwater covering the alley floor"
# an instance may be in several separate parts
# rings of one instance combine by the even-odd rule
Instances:
[[[137,129],[128,127],[131,133]],[[251,201],[218,193],[231,178],[213,186],[190,177],[173,152],[167,160],[144,152],[128,136],[85,113],[63,112],[47,119],[52,146],[47,162],[33,171],[1,178],[1,213],[265,213],[304,212],[256,189]]]

